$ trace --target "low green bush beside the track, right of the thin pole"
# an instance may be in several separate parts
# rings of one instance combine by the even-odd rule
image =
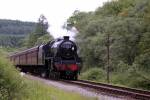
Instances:
[[[128,71],[113,73],[111,80],[113,84],[150,90],[149,74],[139,71],[136,64],[130,66]]]

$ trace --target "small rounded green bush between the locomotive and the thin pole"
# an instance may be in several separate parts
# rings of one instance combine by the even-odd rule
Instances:
[[[81,79],[92,81],[105,81],[106,73],[100,68],[91,68],[80,76]]]

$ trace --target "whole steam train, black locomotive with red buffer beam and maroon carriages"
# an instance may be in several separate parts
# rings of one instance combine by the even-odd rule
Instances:
[[[9,56],[17,69],[53,79],[77,80],[82,68],[78,48],[69,36]]]

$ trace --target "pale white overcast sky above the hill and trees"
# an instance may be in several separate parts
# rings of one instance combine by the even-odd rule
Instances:
[[[44,14],[49,31],[56,38],[68,35],[61,26],[74,10],[94,11],[109,0],[0,0],[0,19],[37,22]]]

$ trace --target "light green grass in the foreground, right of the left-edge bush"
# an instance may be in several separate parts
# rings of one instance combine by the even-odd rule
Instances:
[[[40,81],[26,80],[28,83],[28,96],[24,100],[96,100],[77,93],[71,93],[48,86]]]

